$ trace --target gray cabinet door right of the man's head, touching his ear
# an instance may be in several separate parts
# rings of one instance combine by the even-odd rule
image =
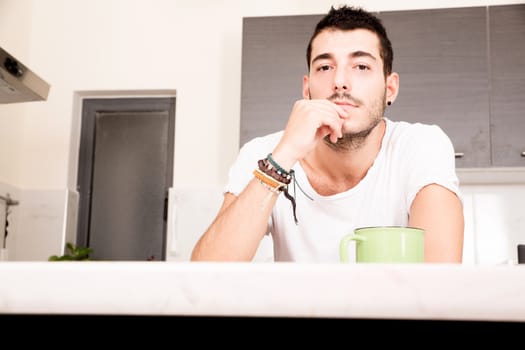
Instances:
[[[400,75],[392,120],[439,125],[457,167],[491,165],[487,8],[382,12]]]

